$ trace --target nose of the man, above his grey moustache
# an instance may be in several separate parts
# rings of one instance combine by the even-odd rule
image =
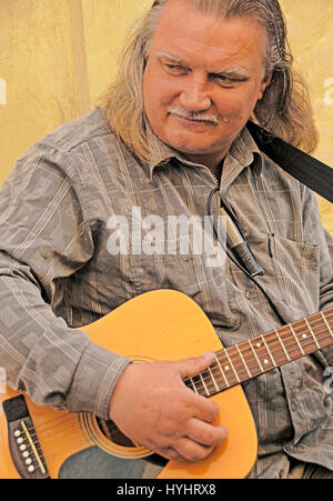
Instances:
[[[209,110],[212,101],[209,94],[208,82],[199,78],[189,78],[180,94],[180,104],[188,111]]]

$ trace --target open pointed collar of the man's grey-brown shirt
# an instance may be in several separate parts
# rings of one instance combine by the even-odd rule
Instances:
[[[162,167],[163,164],[169,163],[173,158],[178,159],[181,163],[196,167],[200,166],[191,162],[182,153],[161,141],[160,138],[158,138],[158,136],[153,132],[149,123],[147,124],[147,132],[150,147],[149,170],[151,179],[157,167]],[[224,164],[226,166],[230,161],[236,161],[243,168],[250,167],[253,163],[253,169],[255,172],[258,174],[261,173],[263,164],[262,152],[258,148],[246,127],[240,132],[232,143],[225,157]]]

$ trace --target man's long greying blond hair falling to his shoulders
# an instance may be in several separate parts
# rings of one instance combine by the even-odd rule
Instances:
[[[255,17],[266,29],[269,43],[266,74],[271,83],[258,101],[252,119],[307,153],[317,146],[307,88],[293,69],[286,24],[279,0],[186,0],[203,14],[221,19]],[[143,162],[150,159],[148,119],[144,112],[142,82],[149,50],[168,0],[155,1],[140,20],[124,47],[118,77],[100,100],[99,107],[127,147]]]

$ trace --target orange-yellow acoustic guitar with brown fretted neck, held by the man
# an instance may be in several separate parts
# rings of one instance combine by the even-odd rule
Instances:
[[[140,363],[214,351],[215,362],[184,384],[218,402],[218,422],[228,427],[228,439],[203,461],[167,462],[158,478],[238,479],[248,475],[258,453],[256,429],[241,383],[333,344],[333,308],[224,349],[194,301],[181,292],[158,290],[81,330],[92,342]],[[91,413],[41,408],[8,387],[0,401],[2,479],[58,478],[68,458],[91,445],[124,461],[152,454],[112,421]]]

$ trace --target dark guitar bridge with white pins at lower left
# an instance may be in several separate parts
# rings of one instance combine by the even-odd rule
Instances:
[[[8,424],[8,443],[22,479],[49,479],[38,435],[23,395],[2,402]]]

